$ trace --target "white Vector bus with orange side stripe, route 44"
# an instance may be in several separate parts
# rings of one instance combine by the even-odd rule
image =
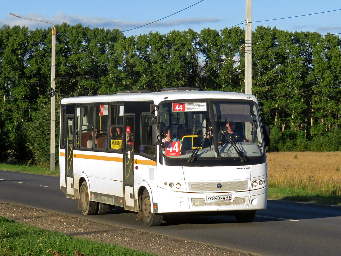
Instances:
[[[268,142],[252,95],[169,88],[65,98],[60,187],[85,215],[114,206],[148,226],[172,213],[251,222],[266,209]]]

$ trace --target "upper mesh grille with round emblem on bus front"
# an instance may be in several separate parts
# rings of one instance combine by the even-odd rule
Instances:
[[[225,182],[188,182],[189,192],[228,192],[249,189],[249,180]]]

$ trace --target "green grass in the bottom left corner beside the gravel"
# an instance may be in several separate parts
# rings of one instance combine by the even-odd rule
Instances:
[[[118,245],[79,239],[0,216],[0,256],[153,256]],[[154,255],[155,256],[155,255]]]

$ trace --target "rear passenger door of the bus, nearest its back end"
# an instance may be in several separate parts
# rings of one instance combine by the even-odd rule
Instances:
[[[65,179],[66,197],[74,198],[73,186],[73,142],[74,142],[74,116],[66,116],[66,148],[65,148]]]

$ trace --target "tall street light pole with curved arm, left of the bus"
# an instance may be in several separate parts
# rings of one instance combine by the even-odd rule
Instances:
[[[25,17],[20,17],[14,13],[10,13],[11,15],[22,18],[22,19],[30,19]],[[51,98],[51,118],[50,118],[50,170],[54,171],[56,168],[56,28],[55,25],[51,22],[46,22],[38,19],[30,19],[38,22],[44,22],[48,24],[52,24],[52,47],[51,47],[51,87],[49,90],[50,98]]]

